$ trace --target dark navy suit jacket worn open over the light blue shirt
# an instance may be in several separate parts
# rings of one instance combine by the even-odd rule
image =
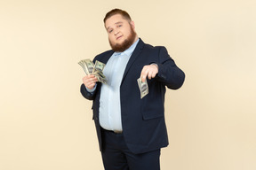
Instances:
[[[108,59],[114,53],[108,50],[93,59],[107,64]],[[140,99],[140,89],[137,79],[140,77],[143,66],[156,63],[158,73],[156,78],[148,81],[148,95]],[[185,79],[178,66],[175,65],[164,47],[153,47],[144,43],[141,39],[132,53],[124,70],[124,77],[120,86],[121,116],[124,140],[130,151],[143,153],[154,151],[168,145],[168,136],[164,121],[164,94],[165,87],[179,89]],[[102,145],[102,129],[99,122],[100,87],[89,93],[84,84],[81,85],[82,95],[93,100],[93,120],[100,143],[100,151],[104,151]],[[119,98],[113,98],[118,100]]]

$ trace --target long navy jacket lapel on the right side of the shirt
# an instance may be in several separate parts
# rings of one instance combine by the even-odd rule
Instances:
[[[129,72],[129,70],[130,70],[132,64],[134,63],[134,61],[136,60],[136,58],[139,56],[141,50],[143,49],[144,44],[145,44],[145,43],[140,39],[140,42],[138,42],[138,44],[137,44],[135,50],[132,52],[132,56],[131,56],[131,58],[129,59],[129,61],[128,61],[126,67],[125,67],[124,75],[123,75],[123,79],[122,79],[121,85],[122,85],[122,83],[123,83],[123,81],[124,81],[124,78],[125,78],[126,74]]]

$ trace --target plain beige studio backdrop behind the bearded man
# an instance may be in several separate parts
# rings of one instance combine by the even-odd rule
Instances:
[[[1,0],[0,169],[103,169],[77,62],[109,49],[116,7],[187,75],[166,94],[162,169],[256,169],[255,2]]]

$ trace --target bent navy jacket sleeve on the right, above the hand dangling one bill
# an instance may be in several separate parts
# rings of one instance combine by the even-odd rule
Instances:
[[[169,89],[180,89],[185,80],[185,73],[176,66],[165,47],[159,48],[157,65],[156,80],[164,83]]]

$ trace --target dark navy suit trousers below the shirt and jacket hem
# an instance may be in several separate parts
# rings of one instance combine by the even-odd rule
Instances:
[[[101,156],[105,170],[160,170],[160,149],[134,154],[127,148],[124,135],[102,131]]]

